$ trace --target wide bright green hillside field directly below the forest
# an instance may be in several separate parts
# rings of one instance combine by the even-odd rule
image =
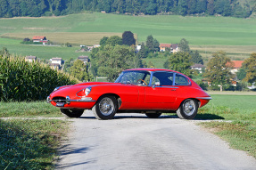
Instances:
[[[44,32],[123,33],[126,30],[136,33],[139,42],[145,41],[146,36],[153,35],[161,43],[178,43],[184,37],[191,45],[256,45],[255,19],[104,13],[0,19],[0,35]]]

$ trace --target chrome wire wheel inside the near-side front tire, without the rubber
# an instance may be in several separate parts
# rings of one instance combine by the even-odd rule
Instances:
[[[114,110],[114,103],[110,98],[105,97],[100,101],[99,109],[104,116],[109,116]]]

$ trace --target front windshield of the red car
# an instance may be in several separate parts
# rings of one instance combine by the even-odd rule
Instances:
[[[133,85],[149,85],[150,73],[147,71],[124,71],[115,83],[133,84]]]

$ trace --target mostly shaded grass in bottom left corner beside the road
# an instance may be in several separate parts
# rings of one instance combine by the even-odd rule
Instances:
[[[0,119],[0,169],[54,169],[61,120]]]

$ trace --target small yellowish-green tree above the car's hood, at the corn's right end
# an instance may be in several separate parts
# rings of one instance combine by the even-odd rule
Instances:
[[[87,66],[83,61],[77,60],[74,61],[73,66],[70,68],[70,75],[73,77],[77,77],[80,81],[91,81],[92,77],[90,77],[88,73]]]

